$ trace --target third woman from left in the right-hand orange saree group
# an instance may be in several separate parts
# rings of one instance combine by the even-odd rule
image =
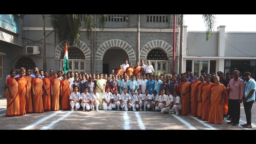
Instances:
[[[197,117],[202,118],[202,100],[200,100],[200,93],[202,91],[202,85],[205,84],[203,75],[200,76],[200,83],[197,84]]]

